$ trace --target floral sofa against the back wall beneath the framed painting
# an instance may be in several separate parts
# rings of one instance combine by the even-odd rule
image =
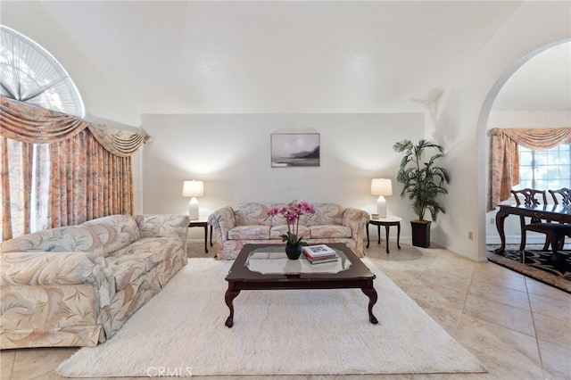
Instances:
[[[208,222],[215,236],[216,257],[236,259],[244,244],[281,244],[287,232],[282,216],[269,218],[268,211],[285,203],[240,203],[211,213]],[[363,237],[370,215],[335,203],[314,203],[316,213],[300,219],[299,235],[309,244],[344,243],[363,257]]]

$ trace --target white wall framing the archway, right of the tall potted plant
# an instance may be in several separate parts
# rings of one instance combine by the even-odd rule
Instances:
[[[524,2],[445,91],[436,123],[436,139],[447,147],[451,167],[449,211],[439,219],[434,239],[473,260],[485,252],[485,146],[493,99],[526,54],[571,37],[571,4]],[[496,85],[497,82],[501,83]],[[474,231],[475,240],[468,239]]]

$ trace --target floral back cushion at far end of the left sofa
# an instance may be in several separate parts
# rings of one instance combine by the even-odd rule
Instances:
[[[81,226],[91,228],[95,235],[99,236],[105,255],[125,248],[141,238],[137,221],[128,215],[110,215],[89,220]]]

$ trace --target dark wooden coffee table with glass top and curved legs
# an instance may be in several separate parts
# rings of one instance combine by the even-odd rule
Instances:
[[[228,271],[224,300],[230,310],[226,326],[234,325],[234,299],[243,290],[360,288],[368,296],[368,320],[377,324],[373,306],[375,274],[345,244],[327,244],[339,255],[336,262],[311,265],[304,257],[288,260],[283,244],[245,244]]]

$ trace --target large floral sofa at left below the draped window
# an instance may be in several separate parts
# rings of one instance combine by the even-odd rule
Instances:
[[[109,339],[186,265],[188,223],[112,215],[5,241],[0,349]]]

